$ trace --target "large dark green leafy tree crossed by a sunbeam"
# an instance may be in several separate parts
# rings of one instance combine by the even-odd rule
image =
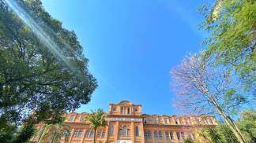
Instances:
[[[74,31],[40,0],[0,0],[0,117],[14,126],[51,119],[90,101],[96,79]],[[2,130],[2,129],[0,129]]]

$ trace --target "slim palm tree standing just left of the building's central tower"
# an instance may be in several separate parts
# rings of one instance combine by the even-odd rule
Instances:
[[[93,142],[96,142],[96,131],[98,127],[107,126],[107,117],[102,109],[97,109],[96,111],[92,111],[92,113],[86,116],[88,122],[90,122],[92,129],[94,130]]]

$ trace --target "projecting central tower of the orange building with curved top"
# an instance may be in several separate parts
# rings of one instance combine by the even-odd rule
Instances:
[[[141,105],[133,105],[130,101],[110,104],[107,121],[109,125],[107,142],[145,142]]]

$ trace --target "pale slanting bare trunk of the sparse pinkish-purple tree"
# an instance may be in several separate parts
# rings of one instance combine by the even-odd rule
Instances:
[[[233,131],[235,134],[235,137],[238,139],[240,143],[245,143],[246,140],[243,138],[243,134],[241,134],[238,127],[235,126],[235,123],[232,119],[230,119],[220,108],[220,106],[216,103],[216,101],[211,98],[211,101],[213,102],[213,105],[216,107],[217,112],[219,112],[220,116],[224,119],[225,123],[227,123],[228,127]]]

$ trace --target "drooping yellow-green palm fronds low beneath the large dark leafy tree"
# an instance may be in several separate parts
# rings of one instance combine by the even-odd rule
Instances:
[[[41,127],[41,129],[38,132],[38,142],[51,142],[51,143],[57,143],[60,141],[60,139],[63,136],[64,130],[70,130],[70,126],[65,125],[63,123],[55,123],[55,124],[47,124]],[[65,135],[65,142],[66,138],[69,134]]]

